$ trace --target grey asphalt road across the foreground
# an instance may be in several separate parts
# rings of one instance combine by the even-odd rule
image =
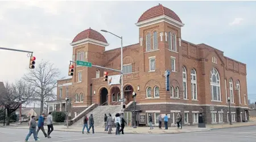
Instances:
[[[15,128],[0,128],[0,141],[5,142],[22,142],[27,136],[28,130]],[[42,131],[39,131],[40,141],[47,142],[72,142],[86,141],[90,142],[170,142],[170,141],[189,141],[189,142],[255,142],[256,126],[225,128],[220,130],[203,131],[203,132],[187,132],[181,134],[125,134],[120,136],[96,133],[96,134],[81,134],[79,132],[60,132],[53,131],[51,139],[44,138]],[[30,141],[35,141],[31,135]]]

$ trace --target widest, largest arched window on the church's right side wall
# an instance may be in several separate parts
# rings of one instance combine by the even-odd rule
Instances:
[[[220,75],[216,68],[210,71],[210,75],[210,93],[212,94],[212,100],[221,101]]]

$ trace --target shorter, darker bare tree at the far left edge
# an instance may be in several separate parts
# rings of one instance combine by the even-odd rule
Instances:
[[[5,83],[5,92],[1,94],[2,99],[0,104],[5,106],[7,117],[6,125],[10,124],[11,114],[19,109],[21,105],[27,105],[30,103],[30,98],[34,96],[33,88],[25,81],[16,81],[15,84]]]

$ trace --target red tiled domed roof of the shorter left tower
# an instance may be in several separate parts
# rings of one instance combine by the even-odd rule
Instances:
[[[90,39],[101,41],[101,42],[108,44],[105,37],[102,36],[101,33],[97,32],[91,28],[85,29],[85,31],[82,31],[78,35],[76,35],[76,37],[73,39],[72,43],[76,42],[76,41],[84,40],[85,38],[90,38]]]

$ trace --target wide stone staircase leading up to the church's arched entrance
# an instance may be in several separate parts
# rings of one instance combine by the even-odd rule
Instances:
[[[97,106],[95,109],[93,109],[86,115],[89,118],[90,114],[93,114],[95,127],[104,127],[104,114],[108,115],[110,113],[114,118],[115,114],[120,113],[120,111],[121,111],[120,105]],[[73,124],[73,126],[83,126],[83,125],[84,125],[84,117],[82,117],[81,119],[79,119],[79,121]]]

